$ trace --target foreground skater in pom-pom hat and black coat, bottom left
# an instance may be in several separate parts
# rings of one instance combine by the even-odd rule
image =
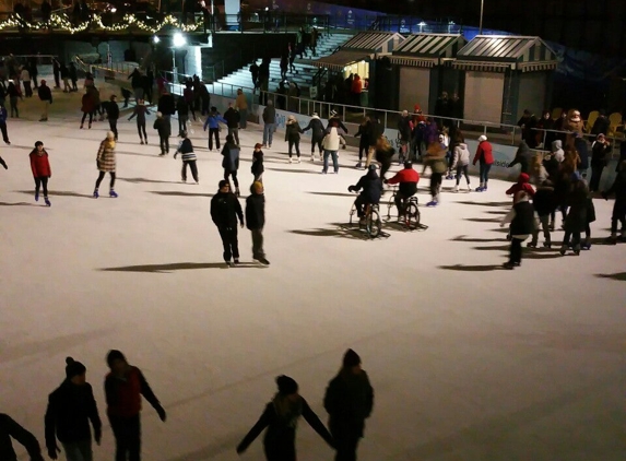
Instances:
[[[101,445],[102,422],[92,386],[86,381],[87,369],[72,357],[66,358],[66,379],[48,398],[46,411],[46,447],[48,457],[56,460],[63,446],[68,461],[92,459],[92,430]]]

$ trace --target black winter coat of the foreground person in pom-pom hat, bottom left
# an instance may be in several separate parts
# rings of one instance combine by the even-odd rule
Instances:
[[[66,380],[48,398],[46,411],[46,447],[91,440],[90,421],[96,438],[102,432],[102,422],[91,385],[73,385]]]

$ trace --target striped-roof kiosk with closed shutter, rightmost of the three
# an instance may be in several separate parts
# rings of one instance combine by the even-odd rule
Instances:
[[[550,107],[557,63],[540,37],[476,36],[452,61],[464,72],[463,118],[515,125],[524,109],[539,117]]]

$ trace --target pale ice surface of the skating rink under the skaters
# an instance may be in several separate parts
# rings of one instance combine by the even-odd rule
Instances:
[[[326,422],[327,382],[353,347],[376,392],[359,460],[626,459],[626,245],[601,245],[611,201],[594,202],[590,251],[562,257],[556,245],[505,271],[508,184],[447,191],[440,206],[421,208],[427,230],[386,226],[390,237],[370,241],[339,226],[354,200],[347,186],[362,175],[355,153],[342,151],[339,175],[322,176],[308,140],[303,163],[290,165],[276,133],[263,177],[271,267],[251,263],[243,229],[246,263],[224,269],[209,214],[222,157],[200,126],[191,135],[200,185],[185,185],[180,159],[157,156],[153,116],[144,146],[122,111],[119,198],[107,197],[107,177],[95,200],[108,123],[79,130],[80,95],[55,95],[47,123],[36,121],[37,102],[25,102],[25,119],[9,119],[12,145],[0,150],[9,164],[0,169],[0,412],[42,444],[47,394],[69,355],[87,366],[105,421],[95,460],[113,459],[103,379],[107,351],[119,348],[168,412],[163,424],[144,404],[143,459],[227,461],[238,459],[276,375],[294,377]],[[250,125],[241,134],[243,196],[260,133]],[[50,209],[33,197],[27,156],[37,140],[50,154]],[[421,190],[421,205],[428,199]],[[332,459],[304,421],[297,446],[300,461]],[[262,459],[261,439],[243,459]]]

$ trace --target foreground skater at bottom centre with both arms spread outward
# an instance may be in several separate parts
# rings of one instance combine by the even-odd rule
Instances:
[[[307,401],[298,393],[298,385],[288,376],[276,378],[279,392],[265,405],[263,414],[237,446],[237,453],[243,453],[267,427],[263,449],[267,461],[296,461],[296,428],[300,416],[326,440],[334,446],[332,436],[323,423],[310,409]]]

